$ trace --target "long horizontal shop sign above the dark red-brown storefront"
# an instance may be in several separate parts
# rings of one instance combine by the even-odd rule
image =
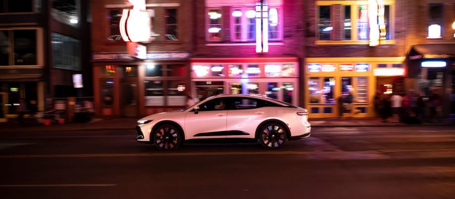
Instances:
[[[188,59],[190,53],[187,52],[148,52],[146,60],[177,60]],[[93,53],[93,61],[130,61],[134,60],[128,52],[121,53]]]

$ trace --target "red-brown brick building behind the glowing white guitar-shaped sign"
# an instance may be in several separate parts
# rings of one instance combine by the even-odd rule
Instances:
[[[151,41],[144,44],[144,59],[131,58],[121,36],[123,9],[132,9],[127,2],[92,2],[96,114],[136,117],[184,108],[190,84],[192,1],[146,1]],[[137,21],[143,20],[148,19]]]

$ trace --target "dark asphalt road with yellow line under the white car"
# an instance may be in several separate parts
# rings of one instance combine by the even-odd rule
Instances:
[[[454,127],[313,128],[281,150],[0,134],[0,198],[455,198]]]

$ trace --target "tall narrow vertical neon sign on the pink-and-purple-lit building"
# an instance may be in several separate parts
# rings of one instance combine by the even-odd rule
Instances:
[[[265,0],[256,2],[256,52],[268,52],[268,6]]]

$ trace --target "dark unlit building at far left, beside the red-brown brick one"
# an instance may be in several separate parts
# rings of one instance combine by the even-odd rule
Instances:
[[[18,117],[21,104],[41,112],[53,109],[46,98],[91,96],[88,3],[0,1],[0,122]]]

